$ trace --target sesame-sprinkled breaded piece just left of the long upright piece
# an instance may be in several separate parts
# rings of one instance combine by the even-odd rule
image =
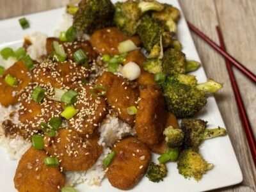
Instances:
[[[107,88],[107,102],[119,118],[130,125],[134,124],[135,116],[129,115],[127,108],[136,106],[139,95],[138,88],[133,86],[132,82],[111,72],[104,72],[102,76],[98,77],[96,84],[102,84]]]

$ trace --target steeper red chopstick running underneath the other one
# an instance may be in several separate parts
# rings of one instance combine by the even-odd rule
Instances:
[[[225,43],[224,43],[224,40],[223,40],[221,30],[218,26],[216,27],[216,30],[218,32],[218,36],[219,36],[219,39],[220,39],[221,49],[223,49],[223,51],[226,51],[226,47],[225,47]],[[225,59],[225,61],[226,61],[230,81],[231,81],[231,84],[232,84],[232,88],[233,88],[233,91],[234,91],[234,95],[236,97],[236,103],[237,103],[237,107],[239,109],[241,121],[243,123],[244,131],[246,133],[246,138],[247,138],[247,141],[248,141],[249,146],[250,146],[250,150],[251,150],[251,153],[252,153],[254,164],[256,166],[256,141],[255,141],[255,138],[253,136],[252,127],[251,127],[250,122],[248,120],[246,110],[244,109],[243,99],[242,99],[241,94],[239,92],[239,88],[238,88],[237,83],[236,83],[236,77],[234,76],[234,72],[232,70],[231,63],[230,63],[229,60],[227,60],[227,58]]]

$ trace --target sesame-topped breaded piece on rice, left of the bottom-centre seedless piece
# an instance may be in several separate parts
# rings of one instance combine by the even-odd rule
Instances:
[[[60,159],[65,171],[80,172],[90,169],[102,153],[99,137],[82,137],[72,129],[59,129],[55,137],[44,137],[45,150]]]

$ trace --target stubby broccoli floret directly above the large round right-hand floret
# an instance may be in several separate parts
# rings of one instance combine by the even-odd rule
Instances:
[[[163,72],[168,75],[184,74],[186,72],[185,54],[172,48],[164,51]]]

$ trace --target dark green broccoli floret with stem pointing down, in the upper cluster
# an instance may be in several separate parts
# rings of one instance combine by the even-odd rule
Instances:
[[[137,33],[140,37],[141,43],[145,49],[150,52],[150,58],[157,58],[163,48],[166,48],[172,42],[172,36],[166,35],[163,25],[150,15],[143,15],[140,24],[137,27]]]

